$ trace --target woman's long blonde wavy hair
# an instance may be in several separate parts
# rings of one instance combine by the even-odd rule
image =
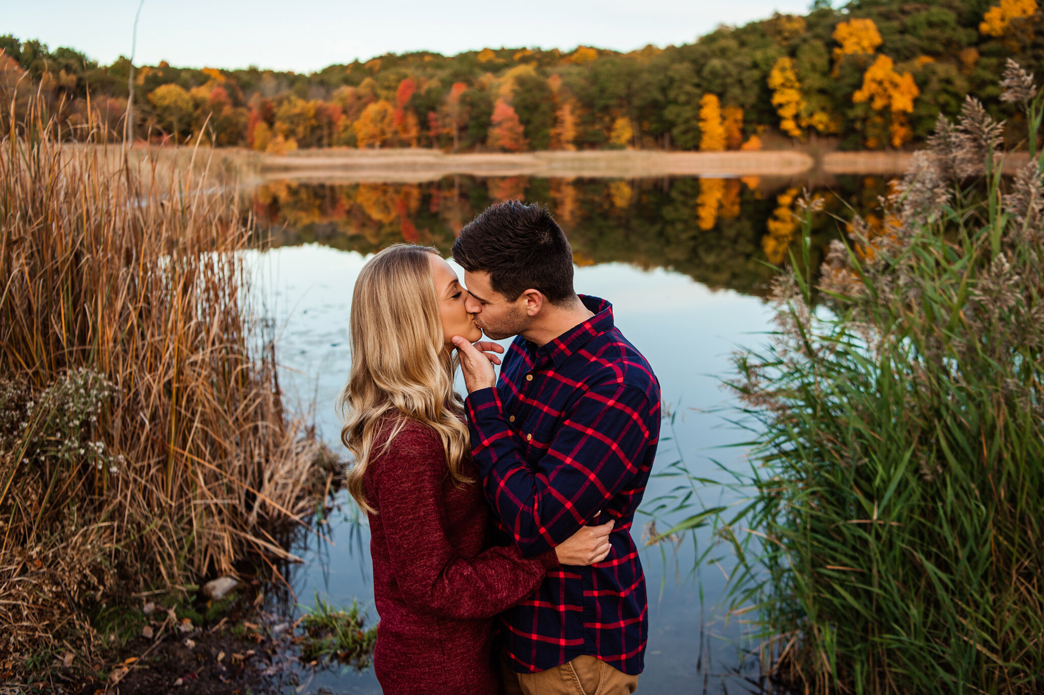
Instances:
[[[460,472],[471,451],[458,416],[464,402],[453,390],[457,361],[443,342],[431,254],[438,256],[428,246],[388,246],[362,266],[352,293],[352,369],[338,399],[340,440],[355,457],[345,473],[348,490],[371,513],[377,510],[365,499],[366,465],[409,420],[438,435],[450,476],[470,482]],[[384,441],[375,441],[386,413],[398,422]]]

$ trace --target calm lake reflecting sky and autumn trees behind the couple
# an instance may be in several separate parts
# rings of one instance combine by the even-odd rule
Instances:
[[[677,471],[675,461],[715,480],[750,471],[742,447],[748,433],[729,423],[736,404],[720,384],[731,376],[730,354],[761,343],[772,329],[762,298],[773,277],[767,264],[782,262],[800,234],[791,212],[803,188],[826,202],[813,224],[817,262],[843,229],[832,215],[851,215],[841,201],[873,226],[887,182],[447,176],[420,184],[266,183],[247,194],[247,203],[272,246],[257,272],[276,327],[285,402],[310,413],[319,435],[343,455],[333,406],[349,372],[352,287],[369,256],[403,240],[448,256],[454,232],[487,206],[507,198],[546,202],[572,244],[576,290],[613,303],[617,326],[652,365],[665,409],[674,413],[673,424],[664,424],[643,509],[654,510],[658,498],[673,506],[690,489],[684,478],[666,475]],[[661,531],[704,506],[739,499],[716,485],[696,485],[693,495],[693,507],[659,514]],[[373,621],[369,532],[346,494],[336,502],[321,525],[334,545],[309,534],[293,550],[306,562],[294,566],[288,580],[301,604],[310,605],[316,594],[339,605],[357,598]],[[636,517],[635,532],[647,521]],[[639,693],[770,691],[756,658],[746,656],[756,643],[717,605],[732,568],[728,547],[695,567],[712,542],[703,528],[677,548],[664,543],[642,551],[649,641]],[[327,670],[301,692],[379,693],[380,687],[372,669]]]

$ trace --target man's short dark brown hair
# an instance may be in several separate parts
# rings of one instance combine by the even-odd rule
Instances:
[[[539,203],[505,200],[460,230],[453,260],[470,272],[490,273],[493,289],[514,302],[527,289],[562,305],[573,291],[573,249],[565,232]]]

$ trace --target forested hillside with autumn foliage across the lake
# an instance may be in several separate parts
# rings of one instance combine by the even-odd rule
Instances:
[[[312,74],[98,65],[71,48],[0,37],[0,92],[46,95],[68,137],[89,120],[138,138],[283,152],[300,147],[757,149],[830,138],[843,149],[916,146],[971,94],[998,104],[1004,59],[1044,59],[1035,0],[816,0],[805,17],[722,26],[683,46],[416,52]],[[1038,70],[1039,72],[1039,70]],[[1002,109],[1001,105],[993,107]],[[1024,125],[1013,113],[1010,134]],[[7,118],[5,114],[4,119]],[[1015,120],[1012,120],[1012,119]]]

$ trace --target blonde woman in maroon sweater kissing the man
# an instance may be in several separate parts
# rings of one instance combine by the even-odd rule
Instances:
[[[397,244],[363,266],[352,296],[341,441],[355,455],[348,488],[370,517],[385,695],[497,693],[493,617],[560,562],[590,565],[610,549],[611,524],[531,558],[487,547],[489,507],[453,391],[451,339],[481,337],[466,293],[435,249]]]

